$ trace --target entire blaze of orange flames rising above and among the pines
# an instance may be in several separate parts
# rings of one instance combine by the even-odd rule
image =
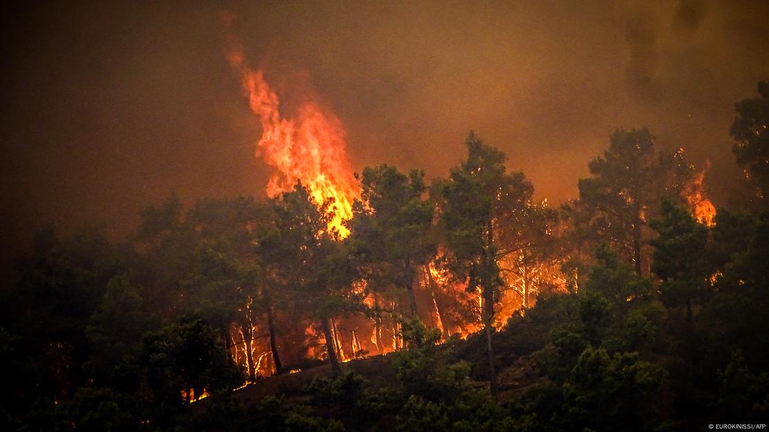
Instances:
[[[276,169],[266,187],[268,196],[275,197],[291,191],[298,181],[301,182],[315,204],[329,205],[333,214],[329,227],[340,238],[348,237],[351,232],[345,221],[353,217],[352,203],[361,197],[361,191],[348,167],[345,130],[341,121],[323,111],[311,98],[302,103],[292,116],[286,115],[280,111],[278,95],[265,81],[264,71],[248,67],[239,49],[231,49],[228,61],[241,75],[241,85],[251,111],[261,122],[262,135],[256,154]],[[679,152],[684,154],[682,149]],[[698,221],[712,226],[715,209],[707,198],[704,186],[706,170],[695,174],[684,185],[681,197]],[[497,199],[500,200],[501,195]],[[631,197],[627,196],[625,200],[630,203]],[[525,211],[540,214],[542,219],[520,232],[508,227],[511,232],[518,232],[519,236],[534,237],[515,240],[522,241],[521,244],[528,243],[529,247],[510,244],[508,247],[515,252],[499,258],[503,284],[499,293],[494,294],[494,310],[497,313],[491,320],[491,325],[498,331],[517,311],[524,314],[533,307],[538,294],[565,291],[566,277],[561,273],[563,260],[557,254],[543,254],[544,250],[538,251],[533,246],[537,237],[543,244],[551,241],[554,229],[551,224],[556,219],[545,202],[521,202],[527,203],[524,204]],[[525,229],[532,231],[523,234]],[[504,238],[509,234],[500,235]],[[251,376],[258,379],[281,372],[281,361],[273,358],[276,350],[281,351],[280,357],[285,357],[283,361],[292,365],[327,361],[331,355],[329,351],[333,351],[333,356],[340,363],[401,351],[406,346],[404,325],[411,318],[418,318],[428,327],[438,329],[442,341],[452,336],[464,339],[481,331],[484,328],[483,291],[479,288],[468,290],[468,280],[462,281],[453,277],[448,269],[440,268],[438,255],[441,254],[437,253],[427,264],[419,266],[411,280],[411,288],[405,291],[387,287],[388,291],[378,293],[381,287],[368,286],[370,281],[359,280],[351,291],[361,295],[370,314],[329,316],[327,331],[316,321],[305,321],[298,326],[299,331],[278,334],[275,346],[271,347],[267,338],[270,331],[264,323],[249,321],[245,327],[232,326],[229,333],[233,360],[247,367]],[[411,307],[408,307],[409,304]],[[277,317],[278,321],[285,318]],[[281,327],[290,327],[290,324]],[[295,370],[298,369],[283,371]]]

